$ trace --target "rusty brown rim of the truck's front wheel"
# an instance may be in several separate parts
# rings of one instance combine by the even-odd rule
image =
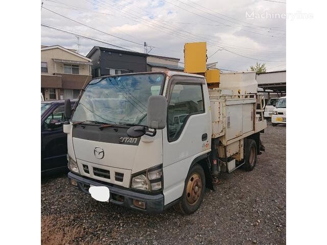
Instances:
[[[193,206],[195,205],[200,197],[202,192],[202,181],[198,173],[194,173],[186,185],[186,199],[188,203]]]

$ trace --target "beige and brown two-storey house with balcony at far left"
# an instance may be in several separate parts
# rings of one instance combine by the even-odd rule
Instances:
[[[41,46],[41,93],[45,101],[75,99],[91,80],[91,59],[59,45]]]

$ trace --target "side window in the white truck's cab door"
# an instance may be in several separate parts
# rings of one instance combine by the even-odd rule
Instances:
[[[204,113],[201,84],[174,85],[167,111],[169,142],[179,138],[186,121],[191,115],[199,113]]]

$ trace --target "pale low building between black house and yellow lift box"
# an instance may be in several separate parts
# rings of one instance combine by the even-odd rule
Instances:
[[[184,71],[184,67],[178,65],[179,60],[166,56],[148,55],[147,71]]]

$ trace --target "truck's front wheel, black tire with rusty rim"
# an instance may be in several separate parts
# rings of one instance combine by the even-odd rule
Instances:
[[[200,192],[200,193],[199,193]],[[205,174],[199,164],[195,164],[186,177],[183,195],[174,209],[182,214],[194,213],[200,207],[205,192]]]

